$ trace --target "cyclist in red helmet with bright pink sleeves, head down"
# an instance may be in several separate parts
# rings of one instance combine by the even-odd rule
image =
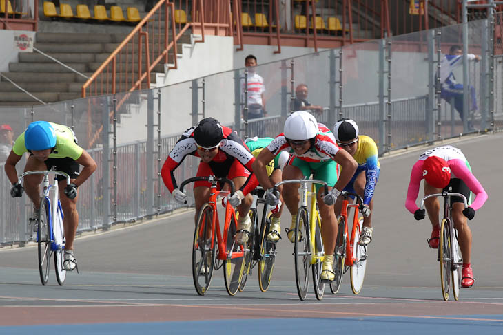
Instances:
[[[450,145],[436,147],[420,155],[415,162],[405,207],[414,214],[416,220],[424,219],[424,209],[418,208],[415,200],[418,197],[421,180],[424,179],[424,195],[450,191],[463,194],[469,200],[469,207],[464,208],[460,197],[451,197],[452,217],[454,226],[458,230],[458,241],[463,257],[462,281],[464,288],[469,288],[475,283],[471,268],[471,230],[466,218],[469,220],[475,216],[478,210],[487,200],[487,193],[480,182],[471,173],[471,167],[462,151]],[[470,203],[470,191],[475,194],[475,201]],[[428,244],[431,248],[438,248],[440,237],[440,203],[438,198],[430,198],[424,202],[428,217],[433,226]]]

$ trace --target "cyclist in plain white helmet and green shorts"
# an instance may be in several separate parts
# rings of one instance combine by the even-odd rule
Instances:
[[[267,188],[266,198],[269,204],[277,204],[279,198],[271,188],[274,186],[267,178],[265,166],[282,150],[291,151],[290,158],[283,169],[283,180],[302,179],[311,173],[318,180],[329,184],[329,193],[323,196],[318,192],[318,208],[322,219],[322,237],[325,248],[321,279],[333,281],[333,250],[336,244],[337,224],[333,213],[340,190],[346,186],[356,171],[356,161],[345,150],[340,150],[330,129],[316,122],[316,118],[307,111],[296,111],[285,121],[285,129],[256,158],[252,168],[260,184]],[[337,175],[337,164],[340,164],[340,176]],[[294,241],[294,227],[298,209],[299,184],[283,185],[283,199],[292,214],[291,226],[287,229],[290,241]],[[317,190],[320,185],[316,186]]]

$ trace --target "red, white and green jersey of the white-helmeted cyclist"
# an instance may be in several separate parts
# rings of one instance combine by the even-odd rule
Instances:
[[[319,131],[314,138],[314,147],[311,147],[311,149],[306,153],[302,153],[302,155],[297,155],[293,151],[291,151],[291,153],[306,162],[325,162],[327,160],[333,160],[336,153],[340,150],[336,144],[336,138],[333,136],[330,129],[322,123],[318,123],[318,129]],[[276,136],[267,146],[267,149],[274,155],[289,148],[290,145],[283,133]]]

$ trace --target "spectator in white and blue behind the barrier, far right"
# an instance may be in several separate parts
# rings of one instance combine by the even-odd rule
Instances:
[[[463,64],[463,50],[460,45],[453,45],[449,49],[449,54],[446,54],[442,58],[440,63],[440,84],[441,93],[440,96],[447,102],[451,103],[454,99],[454,108],[460,114],[461,120],[463,120],[463,84],[456,83],[456,78],[453,71],[456,67]],[[468,54],[469,61],[479,61],[480,57],[474,54]],[[470,90],[470,100],[471,105],[469,110],[477,110],[477,98],[475,97],[475,87],[469,85]]]

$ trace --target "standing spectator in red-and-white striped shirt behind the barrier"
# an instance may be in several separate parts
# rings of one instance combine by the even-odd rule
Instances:
[[[262,118],[267,116],[267,112],[265,111],[265,100],[264,100],[264,80],[261,76],[256,74],[255,68],[257,66],[257,58],[250,54],[245,58],[245,67],[248,70],[247,75],[247,101],[245,101],[245,78],[243,77],[241,83],[241,96],[242,102],[245,103],[248,107],[248,120],[254,118]],[[254,136],[262,137],[263,136],[263,122],[260,122],[260,125],[256,128],[256,133]]]

